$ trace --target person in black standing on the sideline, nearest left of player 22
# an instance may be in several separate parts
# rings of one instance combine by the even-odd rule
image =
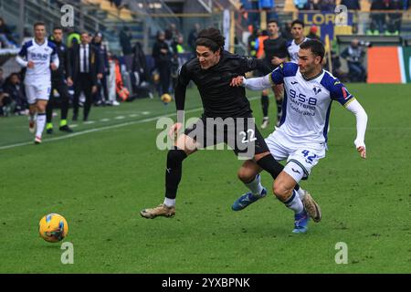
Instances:
[[[158,32],[157,40],[153,46],[153,58],[155,61],[155,68],[157,68],[160,74],[160,95],[169,93],[171,77],[171,57],[172,52],[170,50],[170,47],[165,43],[164,32]]]

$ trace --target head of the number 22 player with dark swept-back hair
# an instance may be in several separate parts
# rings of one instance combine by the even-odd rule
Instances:
[[[215,66],[224,50],[224,36],[214,28],[205,28],[198,33],[195,41],[195,51],[202,69]]]

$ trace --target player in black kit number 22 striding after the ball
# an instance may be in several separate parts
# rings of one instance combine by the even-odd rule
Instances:
[[[181,68],[175,87],[175,105],[178,113],[181,114],[181,111],[184,110],[185,89],[190,80],[194,81],[200,92],[204,113],[193,126],[184,130],[184,134],[177,136],[177,133],[183,127],[179,119],[171,128],[170,134],[174,134],[177,138],[174,149],[168,151],[167,154],[165,198],[159,206],[142,210],[140,214],[145,218],[173,216],[175,214],[175,197],[182,177],[184,159],[198,149],[216,145],[220,141],[230,145],[232,136],[235,136],[234,140],[236,142],[230,147],[235,153],[241,155],[241,146],[246,145],[248,149],[253,150],[252,154],[249,155],[250,158],[254,159],[262,169],[269,172],[274,179],[283,169],[283,166],[270,155],[266,142],[254,125],[254,118],[251,115],[252,110],[245,89],[230,86],[233,77],[244,76],[246,72],[264,67],[264,61],[252,57],[232,55],[224,51],[223,47],[224,36],[221,36],[218,29],[204,29],[199,33],[196,40],[197,57],[186,62]],[[205,122],[205,120],[216,120],[218,118],[221,119],[220,125],[210,127]],[[224,121],[231,120],[230,118],[235,120],[235,130],[232,130],[233,135],[229,135],[230,129],[218,127]],[[252,126],[249,126],[248,121],[252,121]],[[248,128],[242,128],[244,123],[247,123]],[[215,126],[217,128],[216,132]],[[201,129],[201,127],[203,128]],[[201,130],[203,130],[203,133],[201,133]],[[246,132],[248,135],[246,135]],[[243,140],[237,139],[242,134],[245,134]],[[258,182],[259,176],[256,176],[249,183],[255,184]],[[298,189],[300,189],[300,186],[296,186],[296,190]],[[255,202],[266,194],[266,189],[263,189],[261,193],[253,196],[250,200]]]

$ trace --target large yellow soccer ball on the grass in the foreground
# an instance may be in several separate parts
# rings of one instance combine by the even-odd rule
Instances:
[[[66,219],[59,214],[47,214],[38,224],[40,237],[50,243],[57,243],[64,239],[68,233]]]

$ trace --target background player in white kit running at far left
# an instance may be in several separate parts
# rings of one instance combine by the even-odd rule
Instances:
[[[46,107],[51,89],[50,68],[57,70],[59,62],[56,45],[46,39],[45,24],[37,22],[34,33],[35,37],[23,45],[16,61],[26,68],[25,89],[30,106],[28,129],[31,132],[36,131],[35,143],[39,144],[46,124]]]

